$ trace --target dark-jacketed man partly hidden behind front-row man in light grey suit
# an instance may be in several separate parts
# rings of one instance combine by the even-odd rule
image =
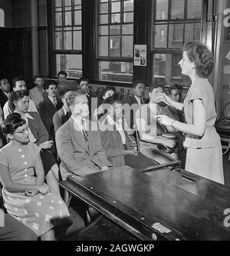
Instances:
[[[71,117],[71,108],[70,105],[73,104],[75,95],[77,95],[77,91],[73,91],[72,88],[63,88],[61,89],[59,96],[61,98],[61,101],[63,103],[63,107],[59,109],[53,117],[53,123],[54,123],[54,133],[56,134],[56,131],[61,127],[61,125],[64,125],[66,121],[69,120]]]

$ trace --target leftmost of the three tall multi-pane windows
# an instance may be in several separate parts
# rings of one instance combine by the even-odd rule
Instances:
[[[68,78],[82,76],[81,0],[53,1],[54,73],[66,71]]]

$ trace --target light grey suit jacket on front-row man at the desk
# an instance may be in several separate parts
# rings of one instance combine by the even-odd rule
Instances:
[[[87,121],[88,144],[82,131],[74,128],[73,118],[70,118],[56,133],[58,156],[61,158],[61,175],[90,175],[104,166],[112,166],[100,142],[100,132],[94,122]]]

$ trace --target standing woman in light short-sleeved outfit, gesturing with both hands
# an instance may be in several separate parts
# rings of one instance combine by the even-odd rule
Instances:
[[[184,111],[186,123],[158,115],[163,125],[172,125],[186,134],[186,171],[224,184],[222,145],[215,131],[215,98],[207,79],[212,74],[214,61],[209,49],[200,43],[188,43],[179,62],[182,74],[191,78],[192,85],[183,104],[162,95],[168,105]]]

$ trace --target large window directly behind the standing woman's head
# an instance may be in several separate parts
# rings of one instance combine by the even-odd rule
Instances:
[[[189,86],[178,62],[186,42],[201,41],[202,0],[153,0],[154,81]]]

